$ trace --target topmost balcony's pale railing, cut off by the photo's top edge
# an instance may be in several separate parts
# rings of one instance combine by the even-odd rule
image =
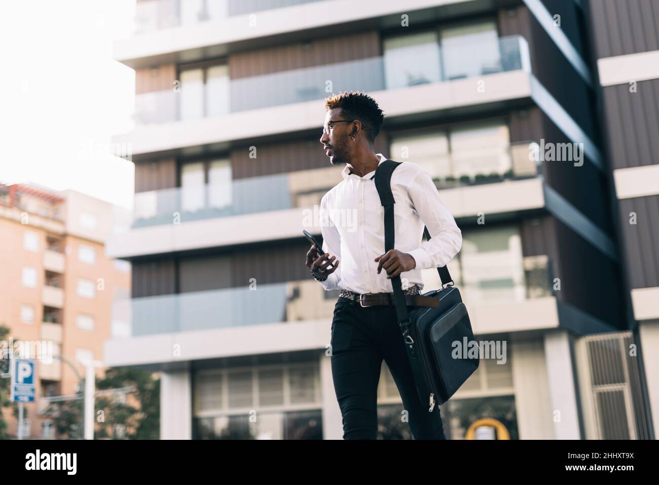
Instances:
[[[135,33],[213,22],[321,0],[150,0],[137,3]]]

